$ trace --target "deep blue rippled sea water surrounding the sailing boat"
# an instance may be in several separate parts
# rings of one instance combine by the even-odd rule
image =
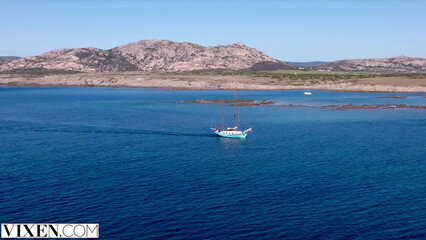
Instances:
[[[425,110],[241,107],[253,132],[233,140],[211,133],[219,105],[175,103],[200,98],[233,92],[0,87],[0,222],[100,223],[101,239],[426,237]]]

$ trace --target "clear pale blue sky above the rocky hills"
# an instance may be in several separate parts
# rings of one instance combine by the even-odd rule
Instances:
[[[0,0],[0,56],[143,39],[241,42],[283,61],[426,57],[426,1]]]

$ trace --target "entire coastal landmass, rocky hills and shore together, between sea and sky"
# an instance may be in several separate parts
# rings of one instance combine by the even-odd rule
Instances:
[[[426,59],[288,63],[242,43],[142,40],[112,49],[58,49],[0,57],[0,85],[174,89],[324,89],[426,92]]]

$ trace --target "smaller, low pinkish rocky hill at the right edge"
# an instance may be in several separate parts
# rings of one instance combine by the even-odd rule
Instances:
[[[376,73],[426,73],[426,59],[399,56],[393,58],[340,60],[320,65],[314,69]]]

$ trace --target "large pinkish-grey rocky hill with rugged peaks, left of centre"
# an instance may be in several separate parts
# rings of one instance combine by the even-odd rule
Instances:
[[[281,63],[242,43],[204,47],[188,42],[142,40],[109,50],[59,49],[0,64],[1,72],[44,69],[79,72],[191,71],[247,69],[261,62]]]

